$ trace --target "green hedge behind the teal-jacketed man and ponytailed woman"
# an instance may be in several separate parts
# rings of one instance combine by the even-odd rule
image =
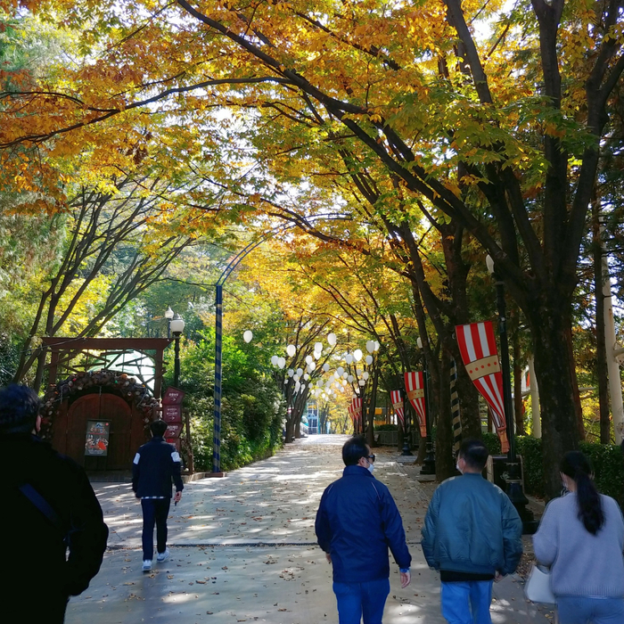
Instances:
[[[500,440],[496,433],[484,433],[483,441],[490,455],[500,455]],[[619,446],[581,442],[579,450],[594,468],[595,487],[602,494],[615,498],[624,506],[624,460]],[[522,456],[524,490],[536,497],[545,497],[542,466],[542,440],[530,436],[516,438],[516,453]]]

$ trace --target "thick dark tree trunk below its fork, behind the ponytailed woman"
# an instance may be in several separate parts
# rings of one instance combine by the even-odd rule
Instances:
[[[579,447],[573,390],[573,366],[566,335],[568,319],[561,308],[544,304],[530,308],[542,414],[542,448],[546,497],[559,496],[562,456]]]

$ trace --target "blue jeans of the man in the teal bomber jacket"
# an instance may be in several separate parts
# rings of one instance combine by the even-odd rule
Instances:
[[[442,615],[448,624],[492,624],[491,580],[456,580],[442,583]]]

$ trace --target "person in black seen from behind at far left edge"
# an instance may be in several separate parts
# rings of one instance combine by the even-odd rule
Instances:
[[[35,435],[38,409],[34,390],[0,390],[0,591],[5,621],[61,624],[100,570],[108,529],[83,468]]]

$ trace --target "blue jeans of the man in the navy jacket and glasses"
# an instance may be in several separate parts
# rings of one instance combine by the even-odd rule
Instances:
[[[390,580],[369,580],[365,583],[333,583],[338,603],[340,624],[382,624],[383,607],[390,594]]]

